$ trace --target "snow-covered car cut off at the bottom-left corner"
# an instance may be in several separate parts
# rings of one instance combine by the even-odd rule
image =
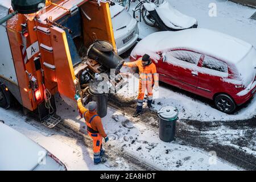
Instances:
[[[54,155],[0,122],[0,171],[65,171]]]

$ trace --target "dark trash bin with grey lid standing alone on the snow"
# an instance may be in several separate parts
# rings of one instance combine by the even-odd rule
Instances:
[[[159,138],[164,142],[171,142],[175,138],[178,110],[175,107],[165,106],[158,111]]]

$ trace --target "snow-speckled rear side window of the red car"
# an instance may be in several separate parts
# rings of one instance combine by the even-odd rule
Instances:
[[[204,57],[204,63],[202,65],[204,68],[213,69],[215,71],[228,73],[228,65],[223,61],[217,60],[210,56]]]

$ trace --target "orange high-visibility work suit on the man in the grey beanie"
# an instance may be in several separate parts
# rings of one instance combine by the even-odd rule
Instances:
[[[101,118],[96,111],[89,111],[82,106],[81,100],[77,101],[77,106],[80,116],[85,118],[88,135],[93,139],[94,163],[99,163],[103,155],[102,152],[104,152],[102,150],[102,137],[105,138],[107,136],[102,126]]]

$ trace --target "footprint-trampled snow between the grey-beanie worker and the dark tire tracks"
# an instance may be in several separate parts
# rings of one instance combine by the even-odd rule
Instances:
[[[72,108],[58,100],[58,114],[65,121],[79,127],[84,133],[84,119],[72,112]],[[61,105],[60,105],[61,104]],[[69,110],[69,111],[67,111]],[[115,119],[114,119],[115,118]],[[75,121],[75,122],[74,122]],[[234,170],[236,167],[217,159],[217,164],[209,164],[210,156],[199,148],[184,146],[181,140],[166,143],[158,137],[158,132],[150,129],[144,123],[133,122],[119,111],[109,107],[108,115],[102,119],[110,142],[105,144],[119,146],[127,154],[137,156],[158,169],[164,170]],[[111,151],[109,151],[111,152]],[[122,162],[122,156],[117,156]]]

